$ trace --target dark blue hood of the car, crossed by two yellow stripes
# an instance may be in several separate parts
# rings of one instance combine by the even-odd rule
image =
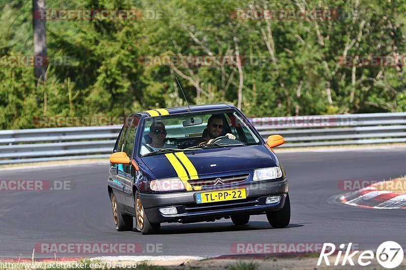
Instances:
[[[264,145],[216,147],[187,150],[183,153],[193,164],[199,176],[276,166]],[[157,179],[178,177],[175,168],[164,153],[144,157],[142,161]]]

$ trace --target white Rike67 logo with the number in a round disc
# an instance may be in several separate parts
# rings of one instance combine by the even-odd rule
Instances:
[[[337,266],[339,265],[341,261],[341,265],[346,265],[347,262],[350,265],[355,265],[354,260],[356,255],[358,256],[358,265],[360,266],[366,266],[371,263],[371,260],[374,259],[375,254],[373,251],[370,250],[365,250],[361,253],[360,251],[356,250],[352,253],[350,253],[352,243],[349,243],[347,246],[347,249],[344,252],[344,256],[342,258],[342,253],[346,247],[345,244],[340,245],[340,250],[337,252],[337,257],[334,261],[334,265]],[[321,250],[319,260],[317,261],[317,265],[320,266],[323,259],[326,265],[330,265],[330,261],[328,260],[328,256],[333,254],[335,252],[335,245],[331,243],[324,243],[323,248]],[[358,254],[359,253],[359,254]],[[399,264],[403,261],[403,249],[402,247],[393,241],[387,241],[382,243],[376,253],[376,258],[383,267],[385,268],[395,268],[399,266]]]

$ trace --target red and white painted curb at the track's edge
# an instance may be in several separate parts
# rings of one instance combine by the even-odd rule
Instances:
[[[375,209],[406,209],[406,194],[378,190],[374,185],[340,196],[346,205]]]

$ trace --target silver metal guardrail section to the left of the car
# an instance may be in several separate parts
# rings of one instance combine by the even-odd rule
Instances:
[[[108,158],[121,126],[0,131],[0,164]]]

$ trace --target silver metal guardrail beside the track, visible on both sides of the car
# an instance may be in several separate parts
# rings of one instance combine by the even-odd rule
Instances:
[[[252,118],[280,147],[406,142],[406,112]],[[0,131],[0,164],[108,158],[121,126]]]

